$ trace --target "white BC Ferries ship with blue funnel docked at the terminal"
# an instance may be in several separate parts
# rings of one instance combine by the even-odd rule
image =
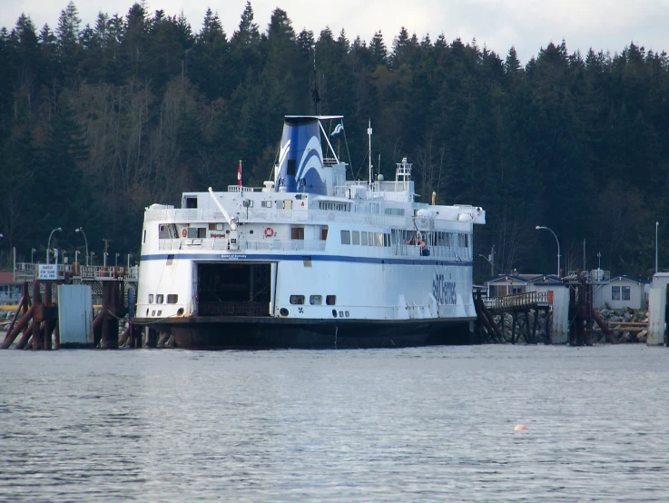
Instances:
[[[240,164],[227,191],[146,208],[133,323],[187,349],[470,343],[486,212],[418,202],[406,158],[395,180],[370,160],[369,180],[347,181],[342,121],[286,116],[262,187],[241,183]]]

